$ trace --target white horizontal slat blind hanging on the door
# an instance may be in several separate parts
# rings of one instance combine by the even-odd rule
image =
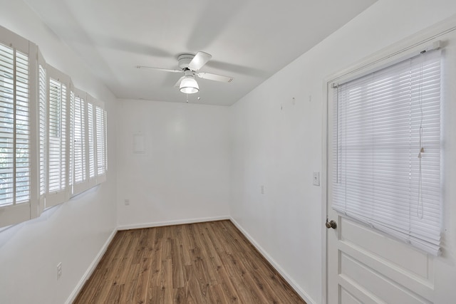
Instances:
[[[334,90],[336,211],[440,251],[440,51]]]

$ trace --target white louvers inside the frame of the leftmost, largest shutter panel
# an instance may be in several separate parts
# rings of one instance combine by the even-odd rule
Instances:
[[[28,55],[0,44],[0,206],[30,200]]]

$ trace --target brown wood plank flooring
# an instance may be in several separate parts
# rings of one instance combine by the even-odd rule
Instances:
[[[231,221],[118,231],[74,303],[304,303]]]

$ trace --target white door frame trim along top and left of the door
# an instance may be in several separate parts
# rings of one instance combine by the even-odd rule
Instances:
[[[456,18],[452,16],[444,19],[435,25],[425,28],[418,33],[414,33],[411,36],[405,37],[404,39],[393,43],[390,46],[386,46],[378,52],[368,54],[365,58],[357,61],[343,68],[336,73],[328,75],[323,79],[323,103],[322,103],[322,125],[321,134],[323,135],[321,144],[321,248],[322,248],[322,288],[321,288],[321,299],[322,303],[328,303],[328,229],[325,226],[326,220],[328,219],[328,149],[331,147],[328,142],[328,102],[330,100],[329,95],[331,93],[331,83],[336,82],[340,78],[349,77],[349,75],[356,75],[361,70],[366,68],[375,69],[380,68],[385,63],[390,64],[391,61],[400,60],[403,56],[407,56],[407,53],[415,51],[415,49],[423,48],[423,45],[430,41],[443,36],[452,31],[456,31]]]

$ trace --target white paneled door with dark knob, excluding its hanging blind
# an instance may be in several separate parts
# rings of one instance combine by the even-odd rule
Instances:
[[[327,300],[336,303],[456,303],[456,31],[433,28],[444,42],[442,63],[442,256],[433,257],[337,214],[331,208],[332,94],[328,87]],[[430,36],[430,34],[427,34]],[[418,37],[418,36],[417,36]],[[413,38],[410,45],[427,36]],[[427,42],[429,43],[429,42]],[[392,50],[393,51],[397,50]],[[330,82],[331,83],[331,82]]]

